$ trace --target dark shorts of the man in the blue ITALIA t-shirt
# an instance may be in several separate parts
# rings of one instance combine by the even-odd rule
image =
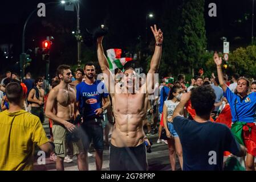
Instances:
[[[89,150],[91,141],[94,142],[96,150],[104,150],[103,119],[84,119],[81,125],[81,138],[85,150]]]

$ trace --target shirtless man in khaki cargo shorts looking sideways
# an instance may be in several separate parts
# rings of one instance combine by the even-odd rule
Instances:
[[[55,154],[57,155],[56,169],[64,170],[63,162],[67,151],[66,137],[68,132],[72,133],[76,130],[76,126],[72,124],[72,121],[74,121],[76,94],[75,90],[69,85],[72,82],[70,66],[60,65],[57,68],[57,75],[60,79],[60,84],[51,89],[48,95],[46,116],[54,121],[52,134]],[[73,142],[73,148],[74,155],[78,157],[78,169],[85,170],[86,163],[82,140],[78,139]]]

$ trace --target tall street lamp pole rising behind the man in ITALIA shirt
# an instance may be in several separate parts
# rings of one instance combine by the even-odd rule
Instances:
[[[78,0],[68,1],[73,3],[76,9],[76,40],[78,42],[78,68],[81,66],[81,41],[82,35],[80,34],[80,6]],[[66,1],[61,1],[62,4],[66,3]]]

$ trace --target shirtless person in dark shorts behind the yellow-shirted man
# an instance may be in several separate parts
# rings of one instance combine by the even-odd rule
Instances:
[[[44,113],[43,113],[43,105],[44,105],[44,90],[43,86],[43,78],[38,77],[35,80],[35,85],[29,92],[29,97],[27,100],[31,102],[31,113],[38,116],[40,118],[41,123],[44,122]]]

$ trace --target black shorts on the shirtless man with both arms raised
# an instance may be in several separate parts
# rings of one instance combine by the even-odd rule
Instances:
[[[147,171],[145,143],[137,147],[115,147],[110,145],[109,171]]]

